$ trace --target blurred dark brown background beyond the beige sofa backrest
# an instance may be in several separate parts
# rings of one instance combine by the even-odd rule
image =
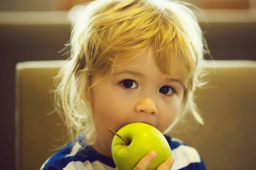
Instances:
[[[58,51],[70,37],[67,11],[87,1],[90,0],[0,0],[1,170],[15,168],[15,65],[66,59],[67,55]],[[213,59],[256,60],[255,0],[186,2],[202,8],[206,16],[207,20],[198,15],[198,20]]]

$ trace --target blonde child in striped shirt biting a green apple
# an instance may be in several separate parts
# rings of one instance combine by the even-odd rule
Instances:
[[[203,123],[194,103],[204,54],[203,36],[186,3],[172,0],[95,0],[75,20],[71,57],[56,89],[73,134],[42,170],[113,170],[113,133],[144,122],[172,149],[157,170],[204,170],[198,152],[167,133],[187,113]],[[156,157],[148,153],[135,170]],[[174,162],[175,159],[175,163]],[[116,168],[117,169],[117,168]]]

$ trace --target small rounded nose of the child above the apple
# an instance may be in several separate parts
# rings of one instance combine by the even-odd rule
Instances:
[[[142,99],[139,103],[137,103],[135,111],[137,113],[148,113],[153,115],[156,115],[158,113],[154,101],[152,101],[152,99],[150,99],[149,97]]]

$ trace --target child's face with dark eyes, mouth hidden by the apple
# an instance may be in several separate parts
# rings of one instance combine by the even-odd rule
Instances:
[[[101,77],[94,75],[92,82]],[[163,133],[179,112],[183,94],[182,83],[160,71],[148,48],[137,59],[116,66],[112,79],[105,74],[93,86],[93,120],[99,141],[111,147],[113,134],[107,127],[117,131],[134,122],[145,122]]]

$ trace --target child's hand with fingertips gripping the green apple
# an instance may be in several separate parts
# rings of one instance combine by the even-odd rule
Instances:
[[[156,154],[151,154],[151,152],[148,153],[142,159],[140,159],[139,163],[136,165],[134,170],[147,170],[147,168],[149,167],[151,162],[156,158],[156,156]],[[168,159],[166,159],[166,161],[160,164],[159,167],[157,167],[157,170],[170,170],[172,168],[173,163],[174,159],[172,157],[169,157]],[[118,168],[116,167],[115,170],[118,170]]]

